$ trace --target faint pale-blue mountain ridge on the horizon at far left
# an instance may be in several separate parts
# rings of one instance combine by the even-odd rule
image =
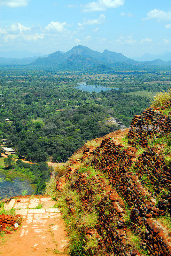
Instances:
[[[41,52],[30,52],[30,51],[10,51],[10,52],[0,52],[0,57],[3,58],[15,58],[15,59],[22,59],[22,58],[30,58],[34,56],[43,56],[45,54]]]

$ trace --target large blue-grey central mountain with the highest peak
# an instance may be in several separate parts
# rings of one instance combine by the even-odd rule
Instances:
[[[58,51],[51,53],[47,58],[38,58],[31,65],[47,67],[49,65],[58,66],[60,64],[61,68],[65,67],[65,65],[67,67],[68,63],[70,63],[73,67],[81,66],[82,68],[89,68],[101,66],[103,68],[110,68],[116,62],[137,64],[137,61],[129,59],[121,53],[110,52],[108,50],[102,53],[93,51],[86,46],[78,45],[66,53]],[[63,65],[61,66],[61,64]]]

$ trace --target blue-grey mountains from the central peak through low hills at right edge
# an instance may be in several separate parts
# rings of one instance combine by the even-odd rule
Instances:
[[[170,63],[164,62],[159,58],[153,61],[140,62],[127,58],[122,53],[110,52],[108,50],[101,53],[82,45],[75,46],[65,53],[57,51],[51,53],[46,58],[39,57],[30,65],[37,67],[56,67],[61,70],[69,68],[82,70],[97,67],[111,69],[119,64],[129,66],[170,65]]]

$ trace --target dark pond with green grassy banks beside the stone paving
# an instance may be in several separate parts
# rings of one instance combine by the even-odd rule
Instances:
[[[0,199],[10,196],[32,195],[35,186],[22,173],[0,170]]]

